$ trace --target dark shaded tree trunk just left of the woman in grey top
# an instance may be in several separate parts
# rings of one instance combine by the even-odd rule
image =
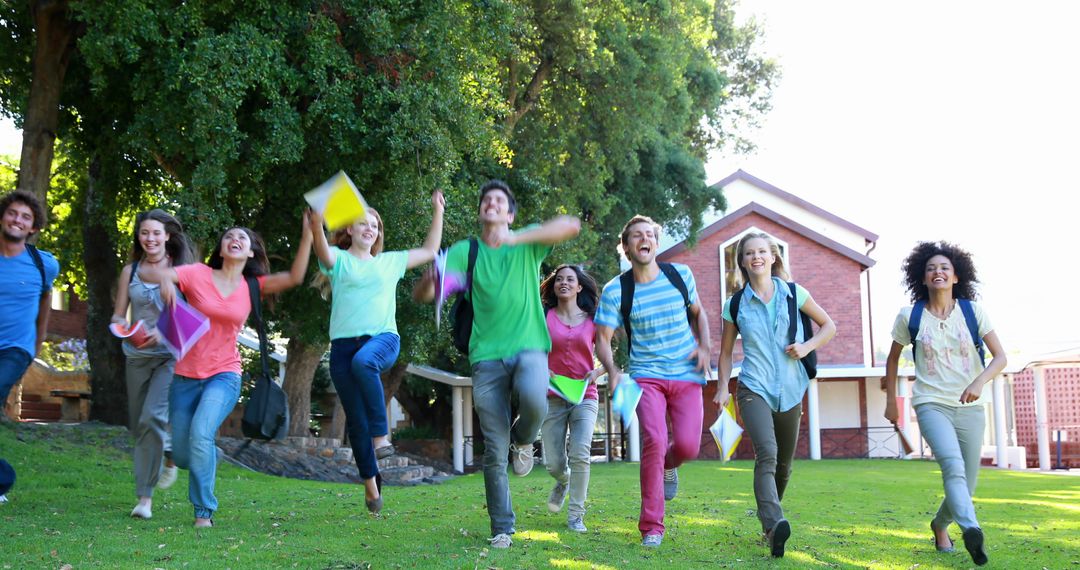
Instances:
[[[124,382],[124,354],[120,339],[108,332],[112,316],[113,284],[117,282],[117,244],[107,225],[116,223],[116,213],[106,196],[116,195],[108,188],[113,179],[102,174],[102,158],[91,159],[90,176],[83,203],[82,259],[86,266],[86,354],[90,358],[90,390],[93,401],[90,417],[105,423],[127,424],[127,388]],[[111,190],[111,191],[110,191]]]

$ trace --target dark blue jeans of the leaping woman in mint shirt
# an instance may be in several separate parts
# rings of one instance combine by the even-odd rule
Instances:
[[[330,341],[330,380],[345,409],[352,458],[363,479],[379,474],[372,438],[389,433],[381,374],[394,364],[400,350],[401,338],[393,332]]]

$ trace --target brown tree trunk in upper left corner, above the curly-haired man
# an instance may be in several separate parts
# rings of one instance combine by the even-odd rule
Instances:
[[[71,53],[75,52],[75,40],[81,25],[71,21],[67,1],[42,0],[31,4],[35,28],[33,71],[23,120],[23,153],[17,187],[33,193],[45,204],[64,74]]]

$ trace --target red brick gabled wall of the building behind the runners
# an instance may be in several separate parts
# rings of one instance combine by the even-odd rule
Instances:
[[[751,227],[787,243],[792,277],[810,291],[818,304],[836,323],[836,337],[818,351],[819,364],[862,365],[862,267],[856,261],[757,214],[745,216],[699,242],[692,249],[680,252],[669,259],[686,263],[693,271],[698,295],[708,316],[714,354],[719,351],[723,334],[720,313],[724,304],[720,286],[724,274],[720,268],[720,245]],[[733,357],[735,362],[742,359],[741,341],[735,345]]]

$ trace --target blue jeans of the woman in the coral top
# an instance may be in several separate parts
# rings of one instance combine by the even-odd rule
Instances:
[[[218,428],[237,406],[240,375],[219,372],[200,380],[176,375],[168,386],[168,423],[173,426],[173,461],[190,472],[188,499],[195,518],[213,518],[217,511]]]

